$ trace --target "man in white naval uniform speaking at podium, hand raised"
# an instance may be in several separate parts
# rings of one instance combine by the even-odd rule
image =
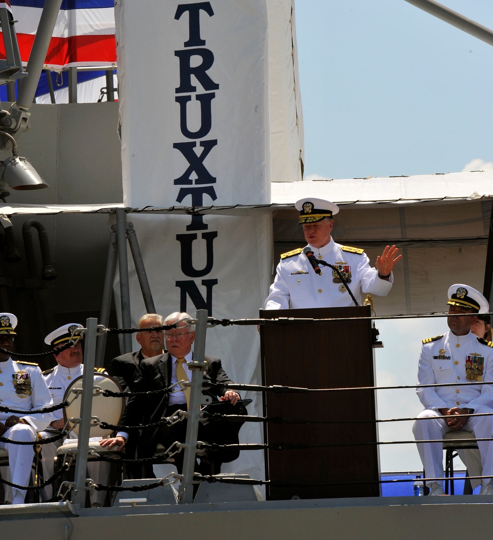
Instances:
[[[323,199],[304,198],[295,206],[308,247],[318,260],[328,262],[343,274],[360,305],[360,287],[365,294],[387,295],[394,281],[392,269],[402,258],[395,246],[385,247],[372,268],[363,249],[342,246],[332,239],[332,216],[339,212],[337,205]],[[283,253],[264,309],[354,306],[337,273],[328,266],[321,265],[320,269],[320,274],[315,273],[303,248]]]

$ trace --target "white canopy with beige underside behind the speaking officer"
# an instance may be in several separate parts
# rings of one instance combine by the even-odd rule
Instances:
[[[395,284],[385,298],[375,298],[377,315],[443,311],[447,284],[464,282],[483,289],[493,171],[429,174],[409,177],[354,178],[272,183],[270,205],[238,204],[170,208],[128,208],[158,214],[256,215],[273,212],[278,254],[304,244],[294,203],[312,195],[341,207],[334,238],[363,247],[375,261],[382,248],[395,243],[404,254],[395,270]],[[0,213],[107,213],[123,204],[3,204]],[[138,233],[138,230],[137,230]],[[437,295],[435,296],[435,293]]]

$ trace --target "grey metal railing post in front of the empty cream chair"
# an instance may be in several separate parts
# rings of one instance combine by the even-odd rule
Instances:
[[[77,441],[77,461],[75,465],[74,503],[85,507],[85,481],[87,478],[87,457],[91,428],[92,393],[94,388],[94,362],[96,357],[97,319],[87,319],[84,346],[84,373],[82,375],[81,423]]]

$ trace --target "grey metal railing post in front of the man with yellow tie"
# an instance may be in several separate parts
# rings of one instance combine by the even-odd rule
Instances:
[[[206,367],[205,332],[207,329],[207,310],[197,310],[197,324],[195,326],[194,361],[187,364],[192,368],[190,390],[189,416],[186,423],[185,454],[183,456],[183,480],[179,487],[179,500],[181,504],[191,503],[194,500],[194,471],[197,453],[198,419],[202,403],[202,372]]]

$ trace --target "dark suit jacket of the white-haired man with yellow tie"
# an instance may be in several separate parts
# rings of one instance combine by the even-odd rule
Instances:
[[[212,383],[227,384],[232,382],[224,372],[221,360],[212,356],[205,356],[208,367],[204,375],[204,381]],[[159,390],[168,388],[171,381],[171,356],[168,353],[152,358],[143,359],[135,379],[133,392],[149,392],[149,390]],[[219,392],[219,393],[216,393]],[[223,396],[226,390],[204,389],[202,394],[209,395],[213,401],[219,401],[218,396]],[[137,426],[138,424],[149,424],[158,422],[166,415],[168,407],[168,394],[137,394],[132,395],[125,407],[120,424],[122,426]],[[229,422],[231,423],[231,422]],[[138,457],[148,457],[155,453],[158,435],[171,433],[172,428],[146,428],[142,430],[137,455]],[[238,443],[238,433],[228,438],[229,443]],[[225,441],[209,441],[225,442]]]

